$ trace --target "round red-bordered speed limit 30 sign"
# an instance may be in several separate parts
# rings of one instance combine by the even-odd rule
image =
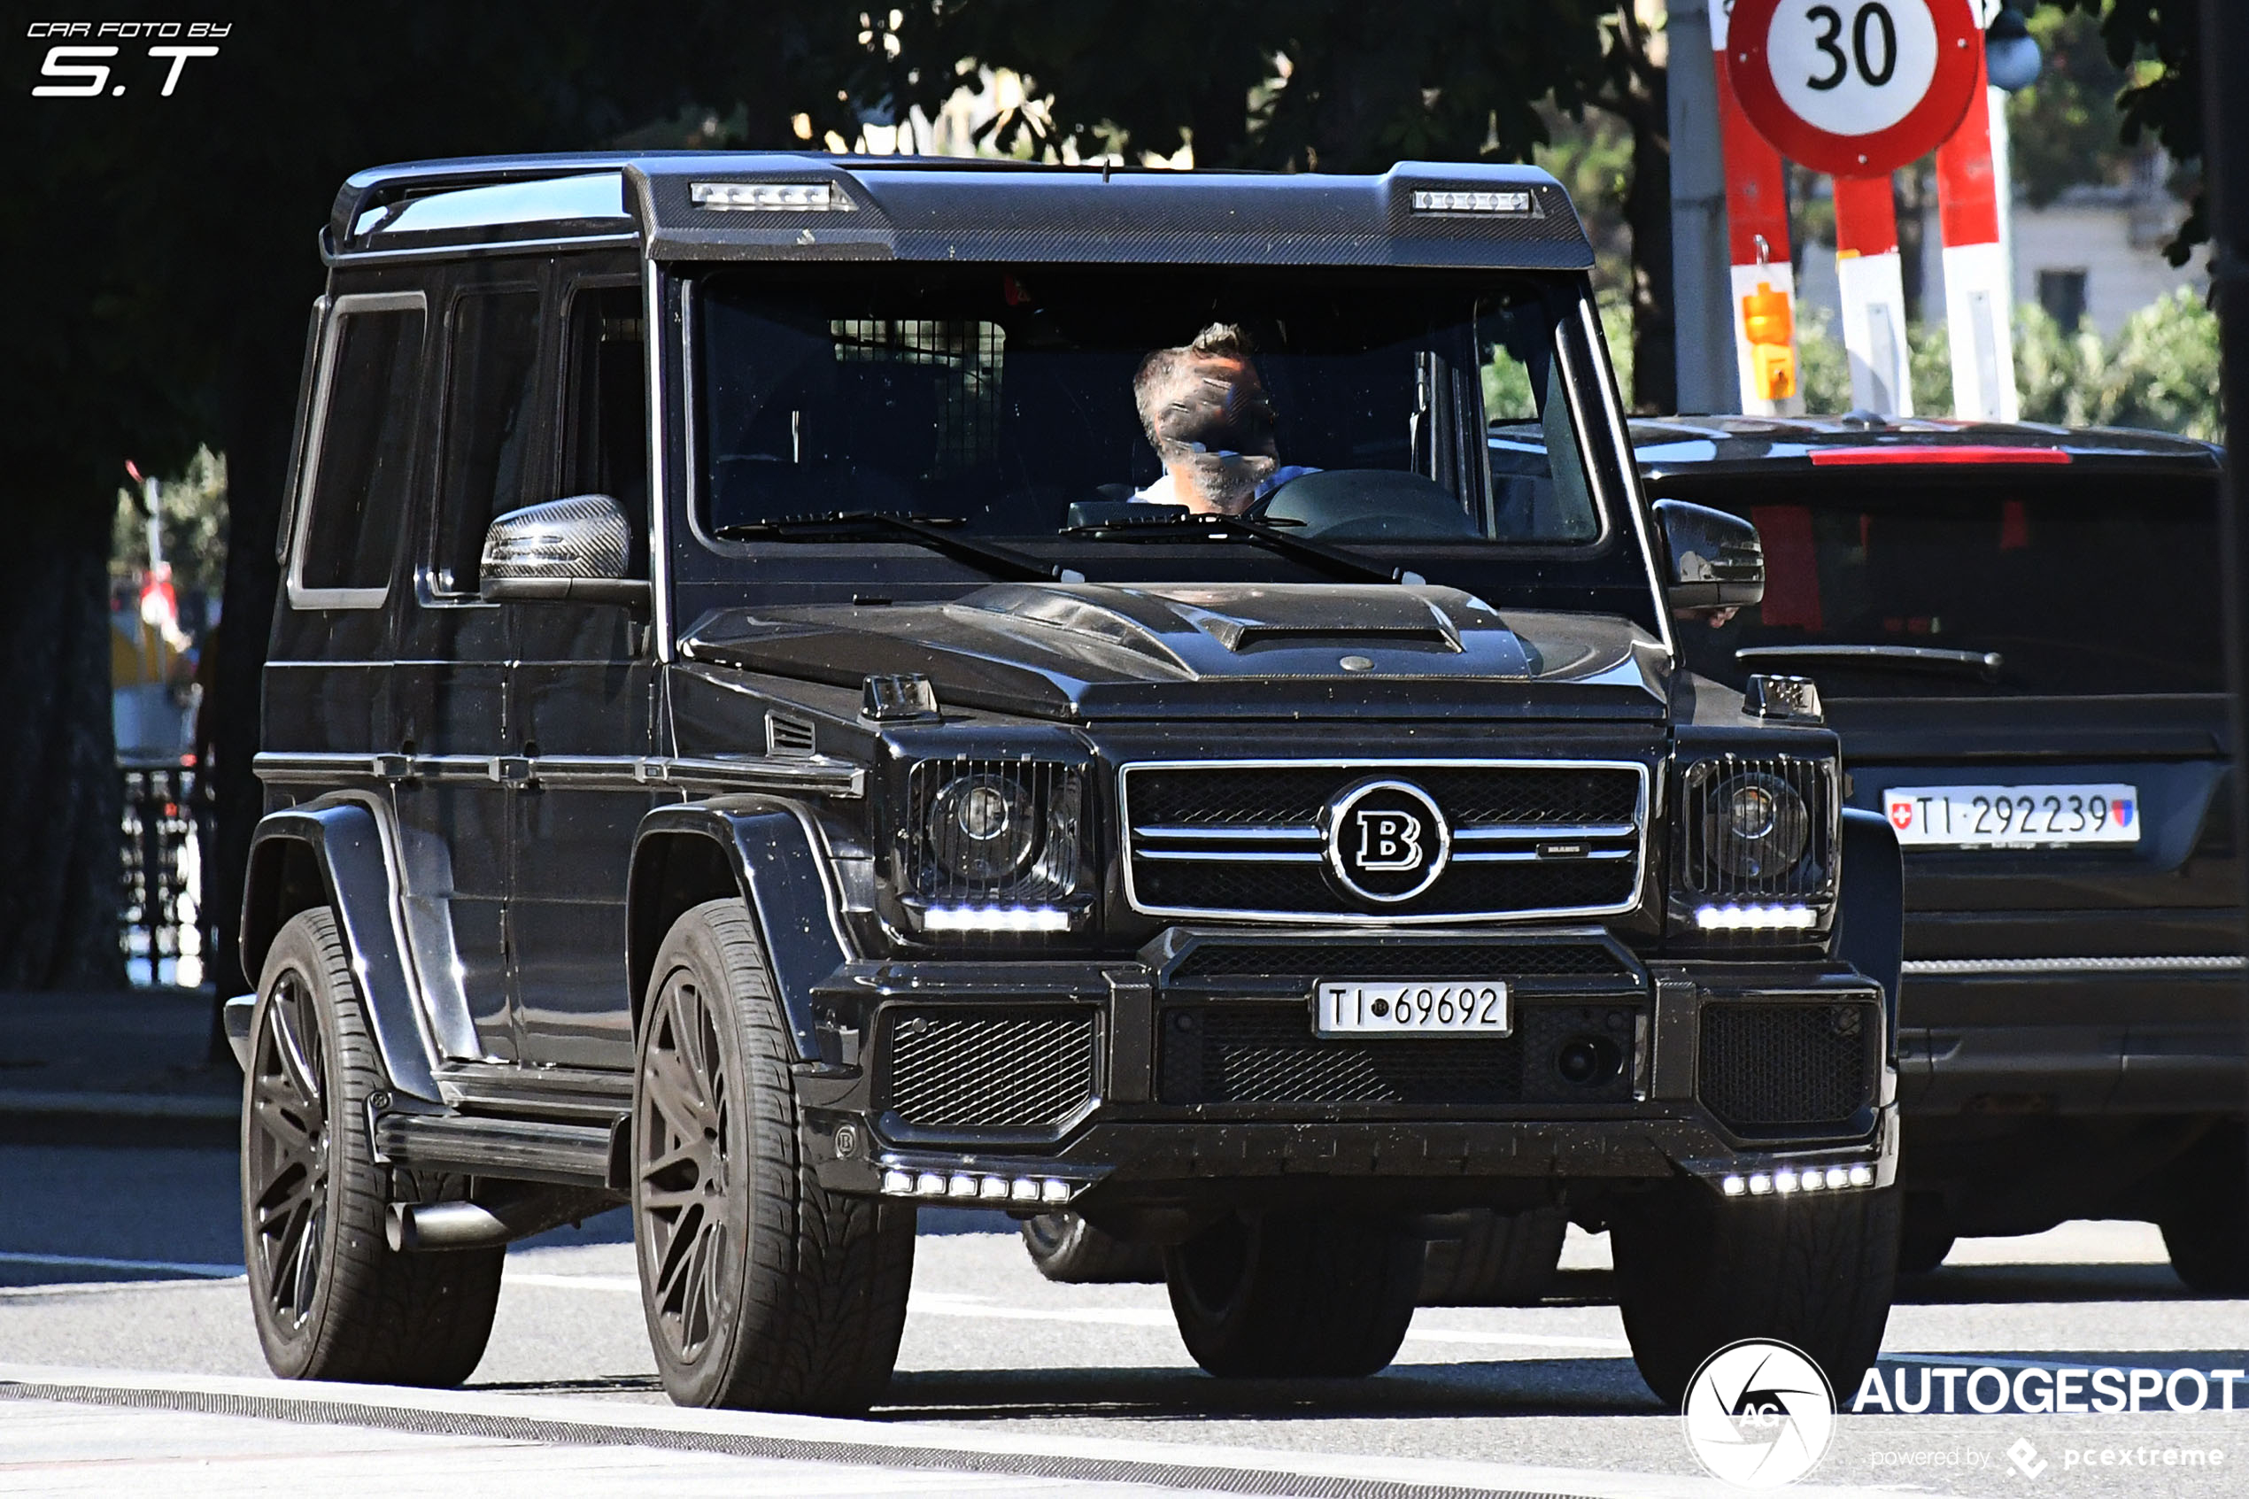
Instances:
[[[1725,52],[1759,135],[1835,178],[1936,151],[1984,79],[1968,0],[1734,0]]]

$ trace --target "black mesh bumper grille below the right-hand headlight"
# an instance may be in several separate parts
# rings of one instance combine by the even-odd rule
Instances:
[[[1876,1000],[1702,1007],[1702,1103],[1736,1135],[1853,1128],[1880,1068]]]

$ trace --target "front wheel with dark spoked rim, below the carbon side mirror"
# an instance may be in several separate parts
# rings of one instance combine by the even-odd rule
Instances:
[[[641,1310],[677,1405],[864,1411],[888,1384],[913,1207],[834,1196],[798,1153],[794,1052],[749,910],[657,951],[632,1085]]]

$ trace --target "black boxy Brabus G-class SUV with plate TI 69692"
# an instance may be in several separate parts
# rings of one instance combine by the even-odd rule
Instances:
[[[1756,535],[1644,503],[1547,175],[436,162],[324,249],[274,1369],[461,1380],[618,1200],[697,1405],[875,1400],[922,1202],[1160,1247],[1221,1375],[1381,1369],[1457,1209],[1613,1229],[1669,1400],[1871,1362],[1896,845],[1808,683],[1678,670]]]

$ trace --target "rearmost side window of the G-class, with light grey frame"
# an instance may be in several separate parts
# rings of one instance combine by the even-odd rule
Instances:
[[[292,605],[382,605],[414,467],[423,319],[421,292],[335,299],[290,569]]]

